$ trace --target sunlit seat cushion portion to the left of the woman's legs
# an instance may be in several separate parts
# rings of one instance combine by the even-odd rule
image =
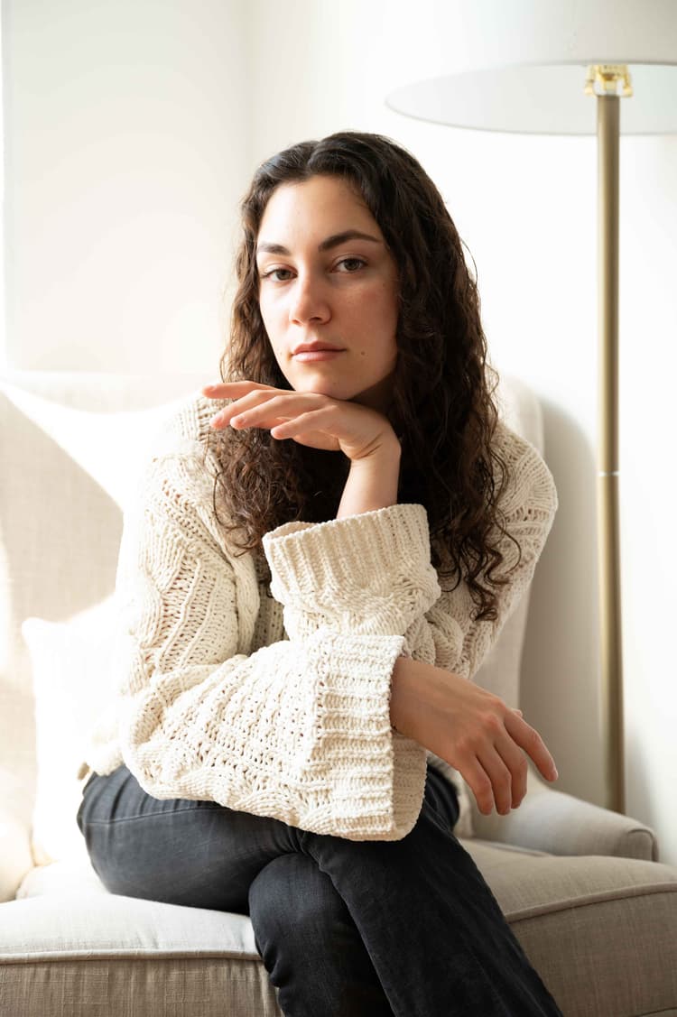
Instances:
[[[0,905],[3,1013],[281,1017],[246,915],[114,896],[81,863],[19,893]]]

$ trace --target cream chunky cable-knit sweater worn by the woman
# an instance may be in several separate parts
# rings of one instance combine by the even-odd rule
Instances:
[[[214,515],[217,464],[203,442],[218,407],[202,396],[182,407],[125,513],[119,697],[88,765],[106,774],[124,761],[157,798],[397,840],[418,817],[427,761],[455,771],[391,727],[394,662],[472,677],[533,575],[557,508],[552,475],[499,424],[513,473],[502,507],[522,558],[496,621],[471,622],[465,583],[441,592],[419,504],[273,530],[271,598]],[[502,550],[512,564],[514,544]]]

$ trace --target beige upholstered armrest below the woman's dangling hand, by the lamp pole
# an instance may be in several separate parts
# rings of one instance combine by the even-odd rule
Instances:
[[[483,816],[474,836],[550,854],[606,854],[658,861],[656,834],[643,823],[556,791],[529,766],[527,793],[507,816]]]

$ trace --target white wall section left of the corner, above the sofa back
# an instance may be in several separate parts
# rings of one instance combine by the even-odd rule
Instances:
[[[247,166],[245,10],[5,0],[11,366],[214,371]]]

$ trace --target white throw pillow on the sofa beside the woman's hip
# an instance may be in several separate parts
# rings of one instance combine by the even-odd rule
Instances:
[[[26,618],[36,702],[38,785],[32,848],[37,864],[87,858],[75,817],[78,768],[95,721],[116,682],[113,596],[68,621]]]

